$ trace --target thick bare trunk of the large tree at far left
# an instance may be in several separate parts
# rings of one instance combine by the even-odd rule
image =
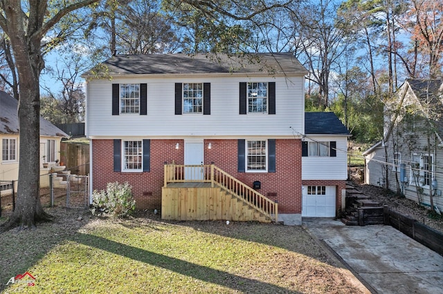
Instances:
[[[39,197],[39,75],[44,67],[40,52],[40,38],[28,39],[24,32],[19,1],[11,1],[5,9],[10,23],[7,32],[14,50],[19,75],[19,181],[15,210],[2,231],[13,226],[33,227],[35,222],[51,217],[42,208]],[[37,13],[36,11],[30,13]],[[33,26],[35,28],[33,29]],[[29,21],[28,30],[37,30],[38,20]],[[29,70],[32,69],[32,70]]]

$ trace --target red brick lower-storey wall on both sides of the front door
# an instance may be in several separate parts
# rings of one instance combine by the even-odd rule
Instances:
[[[178,150],[175,149],[177,143],[180,146]],[[211,143],[211,149],[208,149],[208,143]],[[138,209],[161,208],[164,162],[169,164],[174,160],[177,164],[184,163],[183,140],[152,139],[150,173],[116,173],[113,167],[114,141],[94,139],[91,144],[93,189],[104,189],[108,182],[129,182]],[[278,200],[279,213],[301,213],[300,140],[275,140],[275,155],[276,173],[238,173],[236,139],[204,141],[204,164],[214,162],[217,167],[249,186],[254,181],[260,181],[262,188],[259,192],[272,200]]]

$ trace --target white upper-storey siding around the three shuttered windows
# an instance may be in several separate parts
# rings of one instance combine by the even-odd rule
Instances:
[[[239,82],[275,81],[275,115],[239,115]],[[210,83],[210,115],[174,114],[174,83]],[[304,77],[177,77],[92,80],[87,90],[89,137],[293,137],[302,133]],[[111,115],[111,84],[146,83],[147,115]],[[293,130],[290,128],[292,127]]]

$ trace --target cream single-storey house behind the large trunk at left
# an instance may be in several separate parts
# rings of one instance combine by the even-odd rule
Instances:
[[[10,184],[1,181],[12,181],[19,178],[19,118],[18,101],[0,91],[0,190],[9,190]],[[68,137],[66,133],[40,117],[40,174],[47,174],[55,160],[59,159],[60,141]],[[43,164],[48,163],[47,168]],[[47,186],[48,179],[41,179],[41,185]],[[1,186],[3,184],[3,186]]]

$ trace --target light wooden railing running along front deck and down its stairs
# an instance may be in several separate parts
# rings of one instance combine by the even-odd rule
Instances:
[[[246,204],[253,206],[274,222],[278,222],[278,203],[229,175],[214,164],[165,164],[164,185],[168,183],[205,182],[228,190]]]

